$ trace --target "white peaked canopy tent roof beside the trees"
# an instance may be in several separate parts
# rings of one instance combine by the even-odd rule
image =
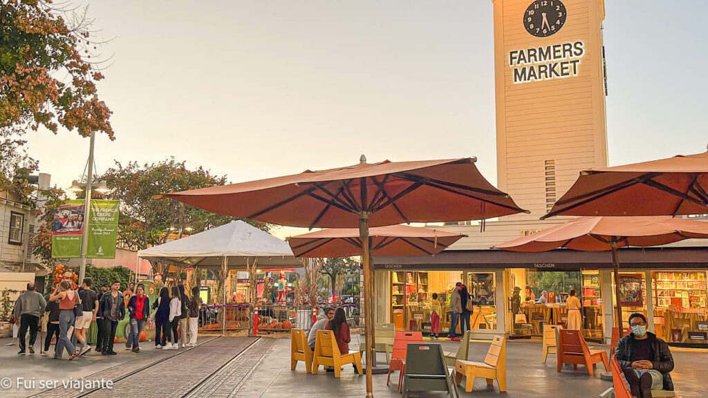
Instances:
[[[302,267],[286,241],[241,220],[140,250],[137,256],[176,264],[179,268],[217,268],[224,279],[232,269],[253,273],[256,266],[261,269]],[[224,297],[226,293],[224,283]]]

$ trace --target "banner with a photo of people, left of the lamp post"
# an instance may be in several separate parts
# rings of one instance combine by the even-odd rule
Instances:
[[[84,233],[84,200],[67,200],[54,210],[52,258],[81,257]]]

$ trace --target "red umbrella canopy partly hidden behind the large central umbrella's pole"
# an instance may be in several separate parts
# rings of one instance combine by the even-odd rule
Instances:
[[[389,225],[369,229],[372,256],[432,256],[465,234]],[[362,241],[356,228],[332,228],[287,238],[295,257],[360,256]]]

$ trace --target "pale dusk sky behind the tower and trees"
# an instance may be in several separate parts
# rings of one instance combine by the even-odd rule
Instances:
[[[496,182],[491,0],[83,4],[112,39],[99,93],[116,140],[97,138],[98,173],[175,157],[239,182],[361,154],[475,156]],[[605,9],[610,165],[704,152],[708,1]],[[27,138],[52,183],[81,176],[89,140]]]

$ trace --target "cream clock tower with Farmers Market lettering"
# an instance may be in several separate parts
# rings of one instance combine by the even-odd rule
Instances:
[[[498,187],[538,222],[607,166],[603,0],[493,0]]]

